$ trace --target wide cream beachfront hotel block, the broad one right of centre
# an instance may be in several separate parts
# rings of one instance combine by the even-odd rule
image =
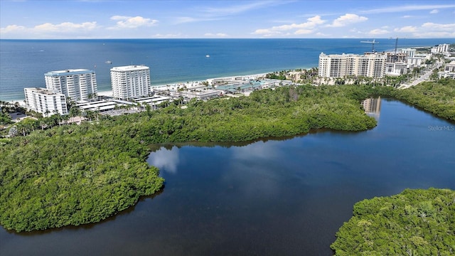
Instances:
[[[344,76],[365,76],[382,78],[385,74],[387,55],[381,53],[319,55],[319,76],[321,78],[343,78]]]

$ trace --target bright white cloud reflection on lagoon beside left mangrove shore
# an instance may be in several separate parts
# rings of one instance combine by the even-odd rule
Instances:
[[[158,167],[161,171],[167,171],[171,174],[177,173],[177,166],[179,163],[178,159],[178,147],[172,146],[171,149],[168,149],[164,146],[150,154],[149,160],[147,162],[151,166]]]

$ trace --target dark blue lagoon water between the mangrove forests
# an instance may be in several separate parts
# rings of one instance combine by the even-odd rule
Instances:
[[[376,117],[366,132],[161,147],[161,193],[94,225],[1,229],[0,255],[331,255],[355,202],[455,189],[455,124],[394,100]]]

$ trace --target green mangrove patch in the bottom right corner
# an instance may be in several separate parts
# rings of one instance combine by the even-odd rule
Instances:
[[[355,203],[336,233],[335,255],[455,254],[455,191],[406,189]]]

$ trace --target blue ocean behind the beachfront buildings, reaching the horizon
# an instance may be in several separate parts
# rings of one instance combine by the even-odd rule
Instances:
[[[0,100],[24,100],[23,88],[45,87],[44,73],[53,70],[95,70],[98,91],[103,92],[111,90],[109,70],[115,66],[149,66],[151,85],[166,85],[317,67],[321,52],[370,51],[371,44],[360,43],[365,40],[372,39],[0,40]],[[375,41],[375,50],[395,48],[395,39]],[[399,39],[398,48],[454,41]]]

